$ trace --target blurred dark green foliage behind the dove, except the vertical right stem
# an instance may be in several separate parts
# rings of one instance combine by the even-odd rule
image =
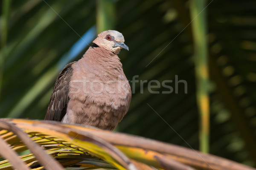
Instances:
[[[107,1],[0,1],[0,116],[44,119],[52,87],[64,67],[61,59],[96,25],[98,32],[122,32],[130,49],[119,54],[124,72],[130,80],[139,75],[139,82],[131,84],[135,93],[119,131],[198,149],[199,61],[193,53],[191,2]],[[256,1],[213,0],[205,10],[211,80],[209,152],[255,166]],[[72,60],[80,59],[86,49]],[[186,80],[187,94],[184,83],[175,87],[175,75]],[[167,84],[178,93],[163,94],[169,89],[162,85],[153,89],[160,94],[149,93],[153,79],[173,80]]]

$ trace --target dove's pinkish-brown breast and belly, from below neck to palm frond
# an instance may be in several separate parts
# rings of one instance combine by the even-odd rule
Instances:
[[[124,74],[74,71],[63,122],[113,130],[127,113],[131,88]]]

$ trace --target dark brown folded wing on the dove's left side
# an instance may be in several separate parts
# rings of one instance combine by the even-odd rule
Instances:
[[[73,74],[72,65],[74,63],[71,62],[66,65],[58,75],[44,120],[61,121],[66,114],[69,100],[69,83]]]

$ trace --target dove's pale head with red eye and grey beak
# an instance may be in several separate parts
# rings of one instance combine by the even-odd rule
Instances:
[[[98,37],[93,41],[93,43],[99,45],[99,47],[105,48],[108,51],[112,51],[119,54],[121,48],[129,50],[128,46],[125,45],[124,36],[114,30],[103,31],[98,35]]]

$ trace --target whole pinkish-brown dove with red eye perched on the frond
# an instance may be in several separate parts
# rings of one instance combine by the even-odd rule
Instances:
[[[119,54],[125,45],[115,30],[98,34],[78,61],[58,74],[45,120],[114,130],[128,112],[131,87]]]

